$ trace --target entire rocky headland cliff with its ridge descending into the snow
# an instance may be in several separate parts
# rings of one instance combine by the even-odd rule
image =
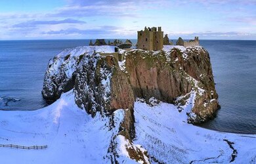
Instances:
[[[189,123],[207,121],[219,108],[209,53],[202,47],[134,49],[124,52],[122,62],[98,52],[114,52],[114,47],[77,47],[60,52],[49,62],[42,94],[47,100],[56,100],[62,92],[74,89],[79,108],[92,117],[99,112],[102,117],[109,117],[113,125],[114,112],[123,109],[119,132],[110,144],[112,161],[118,156],[115,138],[120,135],[127,140],[125,148],[131,159],[147,160],[146,152],[133,145],[135,98],[150,103],[154,97],[175,104],[181,111],[184,104],[192,103],[187,112]],[[188,102],[192,95],[193,101]]]

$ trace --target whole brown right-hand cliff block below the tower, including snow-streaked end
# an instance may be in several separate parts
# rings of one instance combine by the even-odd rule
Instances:
[[[196,92],[191,123],[215,116],[219,109],[209,53],[202,47],[165,46],[163,51],[133,50],[126,53],[125,68],[135,97],[147,101],[154,96],[163,102],[179,104],[177,97]]]

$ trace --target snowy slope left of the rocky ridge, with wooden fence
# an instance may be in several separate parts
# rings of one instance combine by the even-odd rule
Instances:
[[[113,138],[123,110],[116,110],[113,119],[114,126],[99,113],[92,118],[77,107],[73,91],[41,110],[0,111],[0,144],[48,146],[45,150],[0,147],[0,163],[110,163],[111,140],[117,143],[117,161],[127,162],[122,148],[129,143],[121,135]]]

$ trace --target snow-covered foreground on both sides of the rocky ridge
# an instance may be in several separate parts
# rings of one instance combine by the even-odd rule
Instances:
[[[152,163],[256,163],[256,135],[221,133],[186,123],[192,96],[183,110],[154,98],[151,104],[137,99],[134,144],[148,152]],[[122,119],[123,110],[117,110],[115,124]],[[48,146],[0,147],[0,163],[110,163],[108,148],[119,126],[110,129],[108,121],[78,108],[73,91],[40,110],[0,111],[0,144]],[[135,163],[123,149],[125,139],[119,142],[123,163]]]

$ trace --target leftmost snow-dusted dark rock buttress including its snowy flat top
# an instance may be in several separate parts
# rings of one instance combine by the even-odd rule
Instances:
[[[43,81],[43,98],[57,100],[62,92],[70,91],[75,85],[74,72],[85,56],[97,52],[115,52],[114,46],[75,47],[65,49],[49,61]]]

